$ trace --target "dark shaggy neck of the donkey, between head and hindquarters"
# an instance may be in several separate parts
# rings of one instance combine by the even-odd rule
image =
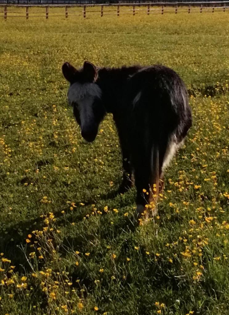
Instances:
[[[121,68],[101,68],[98,70],[97,84],[102,90],[102,100],[106,112],[116,114],[127,106],[124,101],[128,78],[136,73],[140,66]]]

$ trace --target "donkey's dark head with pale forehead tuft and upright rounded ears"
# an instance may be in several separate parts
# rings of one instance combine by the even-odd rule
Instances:
[[[73,105],[81,135],[86,141],[92,142],[106,112],[101,101],[102,91],[96,83],[97,69],[88,61],[85,61],[83,68],[79,70],[66,62],[62,66],[62,72],[70,83],[68,101]]]

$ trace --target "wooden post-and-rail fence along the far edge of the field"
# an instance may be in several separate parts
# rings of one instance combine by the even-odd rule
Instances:
[[[15,11],[12,11],[12,7]],[[20,10],[16,10],[20,8]],[[24,9],[23,9],[24,8]],[[35,8],[39,8],[38,11],[34,11]],[[49,9],[62,8],[63,11],[50,13]],[[3,9],[3,10],[1,10]],[[77,9],[77,11],[74,11]],[[25,10],[23,12],[23,10]],[[43,11],[44,10],[44,11]],[[0,4],[0,17],[4,20],[8,18],[24,17],[26,20],[34,17],[42,17],[49,19],[50,17],[65,17],[66,19],[73,16],[82,16],[84,18],[92,15],[103,17],[104,15],[116,15],[120,14],[166,14],[181,12],[190,13],[214,13],[214,12],[229,12],[229,1],[222,2],[175,2],[175,3],[119,3],[119,4],[68,4],[68,5],[27,5],[27,4]],[[1,15],[3,13],[3,15]]]

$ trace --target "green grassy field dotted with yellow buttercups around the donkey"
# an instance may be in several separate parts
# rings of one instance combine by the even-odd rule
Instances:
[[[0,21],[0,314],[229,314],[229,14]],[[193,127],[132,229],[107,116],[82,140],[61,66],[162,63]]]

